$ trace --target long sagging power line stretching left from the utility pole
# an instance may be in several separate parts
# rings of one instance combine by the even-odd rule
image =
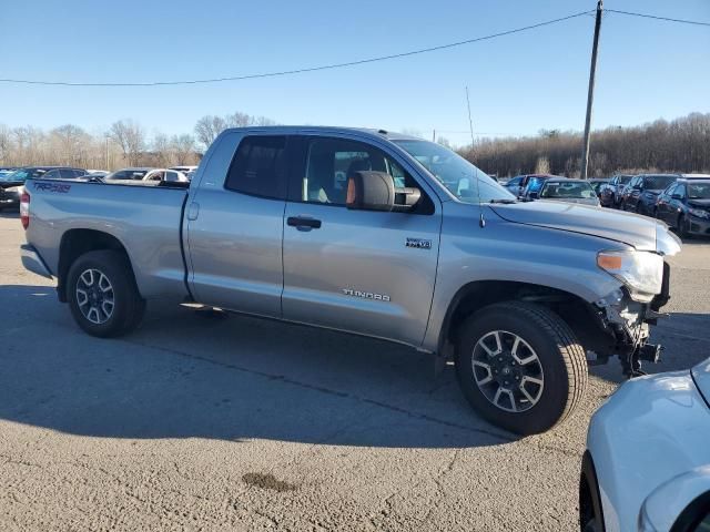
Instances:
[[[566,20],[575,19],[586,16],[591,11],[581,11],[579,13],[569,14],[559,19],[546,20],[545,22],[538,22],[537,24],[524,25],[521,28],[515,28],[513,30],[500,31],[498,33],[491,33],[489,35],[476,37],[473,39],[466,39],[465,41],[450,42],[447,44],[439,44],[437,47],[420,48],[418,50],[410,50],[408,52],[393,53],[389,55],[379,55],[376,58],[359,59],[356,61],[347,61],[344,63],[324,64],[320,66],[306,66],[302,69],[284,70],[280,72],[262,72],[256,74],[233,75],[229,78],[212,78],[204,80],[176,80],[176,81],[149,81],[149,82],[106,82],[106,83],[84,83],[84,82],[69,82],[69,81],[45,81],[45,80],[16,80],[16,79],[0,79],[0,83],[21,83],[28,85],[62,85],[62,86],[159,86],[159,85],[194,85],[201,83],[221,83],[226,81],[243,81],[254,80],[261,78],[275,78],[281,75],[303,74],[306,72],[317,72],[322,70],[343,69],[346,66],[356,66],[361,64],[375,63],[379,61],[387,61],[390,59],[407,58],[410,55],[418,55],[422,53],[436,52],[439,50],[447,50],[450,48],[463,47],[465,44],[471,44],[474,42],[488,41],[490,39],[497,39],[499,37],[511,35],[523,31],[534,30],[536,28],[542,28],[545,25],[556,24]]]

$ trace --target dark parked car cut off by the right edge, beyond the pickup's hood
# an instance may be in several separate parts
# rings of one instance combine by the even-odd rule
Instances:
[[[681,177],[671,184],[658,196],[653,217],[662,219],[683,237],[710,235],[710,176]]]

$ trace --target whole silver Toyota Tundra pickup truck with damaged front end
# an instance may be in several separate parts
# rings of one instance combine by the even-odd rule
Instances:
[[[162,185],[27,183],[23,264],[90,335],[172,298],[383,338],[453,356],[471,406],[524,434],[569,416],[588,361],[618,355],[632,376],[658,356],[649,324],[680,250],[666,225],[518,202],[438,144],[234,129],[189,188]]]

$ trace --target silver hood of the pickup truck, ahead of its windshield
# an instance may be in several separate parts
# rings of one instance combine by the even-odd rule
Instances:
[[[564,202],[494,204],[490,207],[503,219],[516,224],[598,236],[639,250],[658,249],[667,255],[680,250],[677,238],[665,224],[638,214]]]

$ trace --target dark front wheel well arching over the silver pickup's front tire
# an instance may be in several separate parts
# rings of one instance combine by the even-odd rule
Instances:
[[[536,303],[549,308],[570,326],[586,349],[601,350],[598,342],[604,337],[599,335],[599,329],[604,329],[604,325],[598,311],[581,297],[529,283],[479,280],[464,286],[454,296],[439,336],[439,352],[444,352],[446,342],[456,342],[456,331],[468,316],[494,303],[511,300]]]

